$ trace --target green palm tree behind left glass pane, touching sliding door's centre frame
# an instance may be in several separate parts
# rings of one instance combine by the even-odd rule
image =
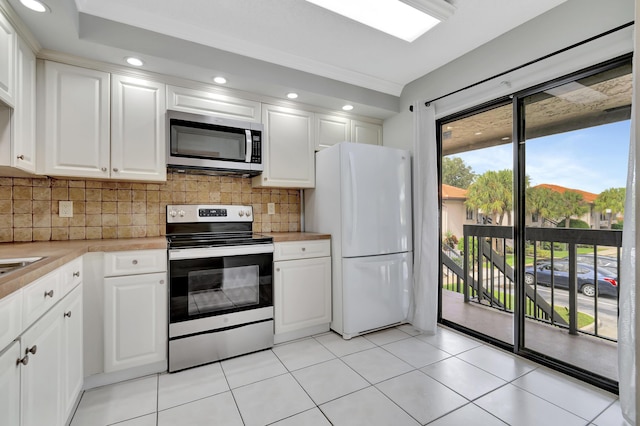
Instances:
[[[473,209],[482,210],[490,215],[493,223],[502,225],[504,217],[511,225],[511,210],[513,210],[513,172],[509,169],[489,170],[469,186],[465,204]]]

